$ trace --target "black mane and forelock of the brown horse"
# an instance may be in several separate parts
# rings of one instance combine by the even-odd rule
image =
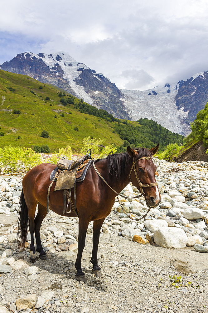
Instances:
[[[151,151],[147,148],[135,148],[138,150],[138,156],[136,158],[140,159],[143,156],[152,156]],[[128,154],[128,152],[124,153],[114,153],[109,154],[106,158],[108,162],[108,172],[109,179],[116,183],[124,183],[126,181],[126,177],[129,175],[129,167],[132,164],[133,158]]]

